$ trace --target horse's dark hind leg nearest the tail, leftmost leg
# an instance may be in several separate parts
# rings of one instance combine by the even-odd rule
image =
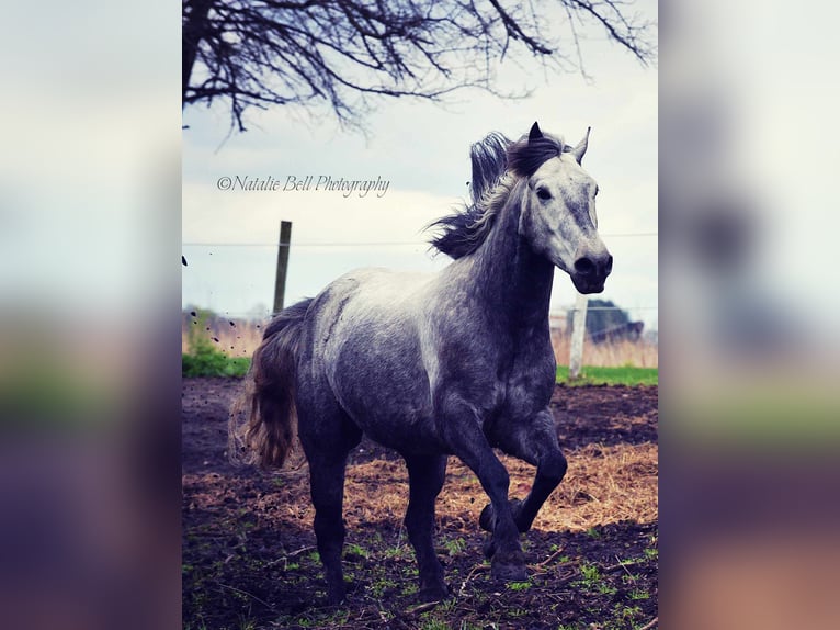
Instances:
[[[300,442],[309,461],[309,483],[315,506],[315,538],[323,564],[327,597],[330,604],[344,599],[341,551],[344,547],[344,469],[350,449],[359,443],[361,431],[347,416],[332,413],[313,417],[298,405]]]

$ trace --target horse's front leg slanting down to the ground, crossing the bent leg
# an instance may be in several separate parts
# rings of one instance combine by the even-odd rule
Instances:
[[[464,402],[444,409],[442,428],[446,445],[475,474],[493,506],[490,571],[496,580],[509,582],[527,577],[519,529],[508,503],[510,476],[481,430],[473,407]]]

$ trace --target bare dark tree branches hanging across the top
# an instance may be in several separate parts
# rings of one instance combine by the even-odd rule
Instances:
[[[537,57],[583,71],[578,31],[597,24],[642,64],[654,24],[632,0],[183,0],[182,103],[230,109],[326,104],[357,126],[376,97],[440,101],[461,88],[495,94],[502,60]],[[537,9],[559,9],[565,24]],[[556,11],[555,11],[556,12]],[[557,31],[565,31],[561,38]]]

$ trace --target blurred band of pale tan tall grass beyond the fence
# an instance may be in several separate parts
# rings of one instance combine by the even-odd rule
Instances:
[[[235,322],[236,326],[227,323],[218,325],[215,329],[204,330],[202,334],[208,338],[218,339],[218,349],[228,357],[250,357],[262,340],[262,326],[257,327],[252,322]],[[184,323],[181,334],[181,351],[189,352],[188,327],[192,326],[189,320]],[[569,364],[569,336],[555,330],[552,335],[552,346],[557,364]],[[597,367],[635,365],[637,368],[657,368],[659,365],[659,348],[649,341],[612,341],[593,344],[587,339],[583,344],[583,364]]]

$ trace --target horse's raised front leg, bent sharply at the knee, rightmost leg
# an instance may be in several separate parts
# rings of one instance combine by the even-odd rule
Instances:
[[[525,424],[506,425],[509,430],[499,436],[502,450],[536,466],[536,476],[531,492],[524,500],[511,502],[513,520],[519,531],[527,531],[536,518],[540,508],[563,481],[566,474],[566,458],[563,457],[557,441],[557,430],[550,410],[543,409]],[[495,507],[492,504],[481,511],[479,522],[492,531]]]

